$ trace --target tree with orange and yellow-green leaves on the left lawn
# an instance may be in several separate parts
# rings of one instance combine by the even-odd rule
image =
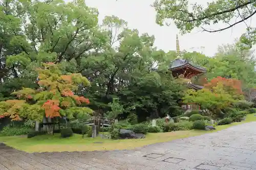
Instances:
[[[29,118],[51,122],[54,117],[73,118],[92,114],[93,111],[85,107],[89,99],[74,94],[78,86],[90,86],[87,78],[81,74],[62,75],[54,63],[42,63],[42,68],[37,68],[36,72],[36,83],[40,87],[15,91],[13,94],[17,95],[17,100],[0,102],[0,118],[9,116],[13,120]]]

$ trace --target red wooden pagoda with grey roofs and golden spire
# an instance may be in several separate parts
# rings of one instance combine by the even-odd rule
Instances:
[[[168,68],[168,70],[172,71],[173,77],[181,78],[182,80],[184,80],[184,82],[187,83],[187,88],[195,90],[202,89],[203,86],[193,84],[191,82],[191,78],[197,75],[205,74],[207,70],[206,68],[197,66],[194,63],[181,58],[178,35],[176,35],[176,53],[177,58],[170,63],[170,66]],[[193,106],[194,104],[183,104],[182,108],[184,108],[185,110],[190,110]],[[200,109],[199,106],[196,107],[197,109]]]

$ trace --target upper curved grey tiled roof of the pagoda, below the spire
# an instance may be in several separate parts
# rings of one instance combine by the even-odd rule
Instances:
[[[182,69],[182,68],[186,68],[186,67],[190,67],[192,69],[195,69],[199,72],[203,72],[205,73],[207,70],[204,67],[200,67],[197,66],[195,64],[193,64],[192,62],[185,60],[185,59],[175,59],[174,61],[172,61],[172,63],[169,66],[169,70],[178,70],[178,69]]]

